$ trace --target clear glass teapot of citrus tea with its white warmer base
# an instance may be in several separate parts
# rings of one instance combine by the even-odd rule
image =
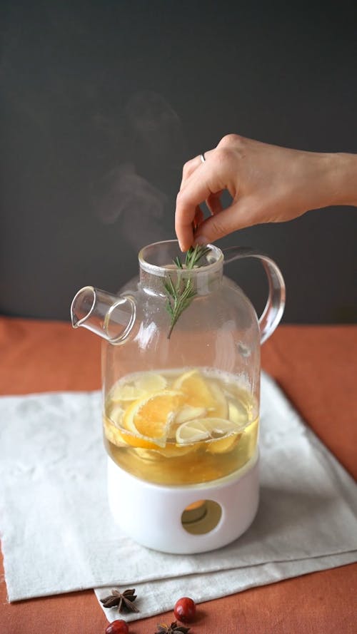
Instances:
[[[84,287],[71,305],[73,326],[105,339],[111,511],[136,541],[171,553],[219,548],[253,520],[260,346],[285,304],[271,258],[243,247],[224,255],[201,248],[190,268],[176,240],[146,246],[136,288],[115,296]],[[224,262],[243,257],[261,260],[268,277],[260,319],[223,276]]]

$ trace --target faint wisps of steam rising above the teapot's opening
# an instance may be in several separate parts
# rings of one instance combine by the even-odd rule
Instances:
[[[181,165],[183,134],[174,109],[152,91],[135,93],[125,116],[130,158],[94,183],[92,197],[99,220],[106,225],[120,222],[121,234],[137,251],[172,237],[174,204],[170,210],[169,196],[151,183],[149,175],[160,181],[169,169],[172,177]]]

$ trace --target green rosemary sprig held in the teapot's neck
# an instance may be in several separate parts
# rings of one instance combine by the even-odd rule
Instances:
[[[196,247],[190,247],[186,252],[186,261],[183,266],[180,258],[177,256],[174,259],[174,264],[178,270],[192,270],[198,267],[198,262],[202,257],[207,255],[210,248],[205,245],[196,245]],[[186,308],[191,304],[193,297],[196,295],[196,291],[193,287],[191,277],[186,277],[186,280],[181,279],[181,275],[178,273],[176,284],[171,279],[170,275],[166,276],[164,287],[167,292],[166,310],[171,317],[171,326],[167,338],[170,339],[171,332],[174,329],[178,317],[183,313]]]

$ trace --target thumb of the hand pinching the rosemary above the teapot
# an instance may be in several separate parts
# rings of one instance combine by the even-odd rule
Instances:
[[[239,199],[210,218],[203,220],[195,233],[195,244],[209,244],[233,231],[256,224],[246,199]]]

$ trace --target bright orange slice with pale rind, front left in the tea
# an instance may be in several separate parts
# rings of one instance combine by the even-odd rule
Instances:
[[[124,427],[163,446],[171,421],[182,402],[183,394],[172,389],[164,389],[139,399],[126,409],[123,417]]]

